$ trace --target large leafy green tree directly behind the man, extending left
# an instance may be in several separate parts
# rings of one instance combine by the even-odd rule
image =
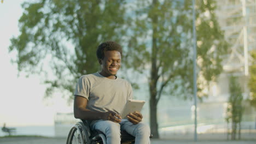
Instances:
[[[99,69],[96,47],[102,41],[122,40],[125,34],[125,2],[40,0],[22,4],[20,35],[11,39],[9,51],[18,53],[19,71],[46,73],[50,59],[56,79],[47,78],[46,96],[57,88],[74,92],[79,76]]]

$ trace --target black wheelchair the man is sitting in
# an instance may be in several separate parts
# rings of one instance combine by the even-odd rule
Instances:
[[[92,131],[87,121],[80,119],[71,130],[69,130],[66,144],[106,144],[107,139],[101,131]],[[152,136],[150,136],[152,137]],[[135,143],[135,137],[126,131],[121,131],[121,143]]]

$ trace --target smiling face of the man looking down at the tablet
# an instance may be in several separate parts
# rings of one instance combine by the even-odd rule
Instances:
[[[117,71],[121,67],[121,53],[119,51],[106,51],[103,59],[99,59],[101,64],[101,75],[108,78],[115,78]]]

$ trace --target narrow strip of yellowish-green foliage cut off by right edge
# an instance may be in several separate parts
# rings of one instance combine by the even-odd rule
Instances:
[[[253,58],[252,65],[249,66],[249,82],[248,87],[250,89],[249,101],[251,105],[256,107],[256,51],[251,52]]]

